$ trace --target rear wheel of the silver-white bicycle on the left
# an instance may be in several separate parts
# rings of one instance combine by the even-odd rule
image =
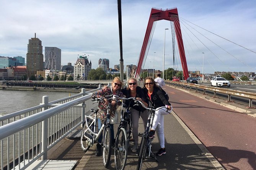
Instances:
[[[91,128],[91,130],[93,131],[94,123],[92,123],[92,121],[89,120],[88,125],[89,125],[89,128]],[[90,138],[90,139],[88,139],[88,138]],[[93,136],[92,136],[91,132],[88,131],[86,122],[84,122],[81,139],[80,139],[82,150],[87,152],[91,147],[90,144],[92,143],[92,141],[93,141]]]

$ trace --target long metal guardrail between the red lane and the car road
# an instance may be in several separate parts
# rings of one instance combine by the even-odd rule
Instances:
[[[193,83],[174,82],[169,80],[165,80],[165,83],[173,86],[178,86],[178,87],[181,86],[181,88],[185,87],[186,89],[189,87],[190,88],[189,90],[192,90],[192,87],[194,87],[196,88],[196,92],[198,91],[198,89],[202,89],[204,91],[203,94],[205,94],[206,90],[213,91],[214,98],[216,97],[216,93],[222,93],[222,94],[228,95],[228,101],[231,101],[231,95],[247,98],[249,99],[249,108],[253,107],[253,100],[256,100],[256,93],[251,93],[246,91],[231,90],[231,89],[220,88],[220,87],[211,87],[211,86],[198,85]]]

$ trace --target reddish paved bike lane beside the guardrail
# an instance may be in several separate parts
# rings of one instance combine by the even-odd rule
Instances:
[[[228,170],[256,169],[256,118],[165,86],[173,111]],[[195,93],[195,92],[192,92]]]

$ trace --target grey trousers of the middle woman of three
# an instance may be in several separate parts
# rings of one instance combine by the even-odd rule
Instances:
[[[132,136],[134,138],[134,143],[138,143],[139,136],[138,136],[138,128],[139,128],[139,118],[142,118],[143,124],[144,124],[144,130],[147,127],[147,121],[148,121],[148,110],[145,110],[144,112],[137,111],[136,109],[130,108],[130,112],[132,113]]]

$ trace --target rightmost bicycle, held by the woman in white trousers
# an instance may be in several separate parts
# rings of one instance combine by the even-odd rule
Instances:
[[[154,107],[146,107],[141,101],[136,101],[136,105],[141,105],[145,109],[149,110],[149,115],[148,115],[148,123],[147,123],[147,128],[145,129],[145,132],[142,133],[142,139],[140,141],[140,148],[139,148],[139,160],[138,160],[138,165],[137,165],[137,170],[141,169],[142,166],[142,160],[145,160],[146,157],[150,157],[153,159],[155,158],[155,155],[153,154],[151,148],[152,148],[152,141],[153,138],[148,137],[148,132],[150,128],[152,127],[153,124],[153,119],[155,117],[155,111],[158,111],[159,109],[164,109],[166,112],[168,112],[168,109],[165,106],[158,107],[155,109]],[[157,159],[156,159],[157,160]]]

